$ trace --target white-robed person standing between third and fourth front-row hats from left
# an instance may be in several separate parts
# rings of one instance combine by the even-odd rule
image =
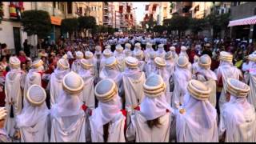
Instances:
[[[122,88],[125,93],[125,109],[127,111],[127,123],[130,122],[130,114],[134,112],[144,98],[143,83],[146,81],[145,73],[139,70],[138,59],[126,58],[126,70],[122,73]]]

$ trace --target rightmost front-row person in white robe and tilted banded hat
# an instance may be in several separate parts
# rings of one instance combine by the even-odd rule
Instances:
[[[255,142],[255,108],[246,99],[250,93],[250,86],[234,78],[228,78],[226,85],[230,102],[224,104],[220,115],[218,134],[221,140],[223,142]]]

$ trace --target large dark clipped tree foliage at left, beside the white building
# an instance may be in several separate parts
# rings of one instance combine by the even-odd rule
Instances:
[[[50,34],[50,15],[44,10],[26,10],[22,13],[22,26],[30,36],[37,34],[38,38],[45,38]]]

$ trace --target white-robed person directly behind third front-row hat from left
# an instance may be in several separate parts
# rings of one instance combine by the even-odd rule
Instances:
[[[99,78],[110,78],[116,82],[118,92],[122,92],[122,73],[118,70],[118,61],[115,57],[106,58],[104,68],[99,74]]]

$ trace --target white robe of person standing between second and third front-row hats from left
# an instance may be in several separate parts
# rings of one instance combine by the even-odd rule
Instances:
[[[95,108],[95,97],[94,97],[94,75],[92,75],[91,70],[81,69],[78,74],[82,77],[84,86],[82,94],[80,95],[80,100],[85,102],[85,105],[91,110]]]

